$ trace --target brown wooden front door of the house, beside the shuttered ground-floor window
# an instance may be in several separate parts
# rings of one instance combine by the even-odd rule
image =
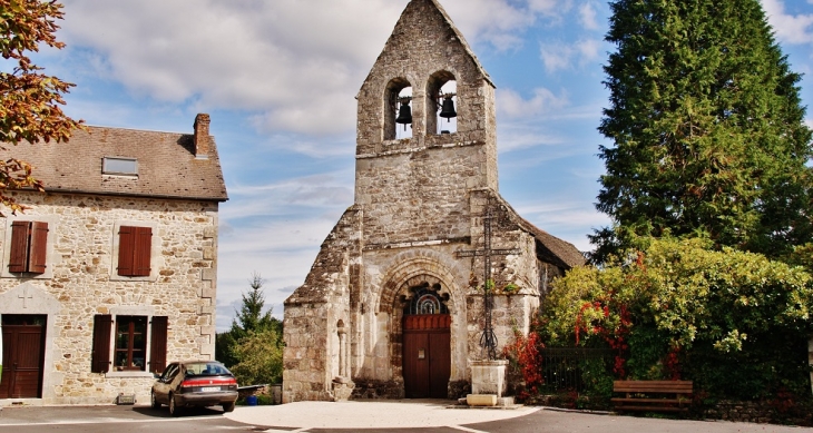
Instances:
[[[46,316],[2,315],[0,398],[39,398],[42,390]]]

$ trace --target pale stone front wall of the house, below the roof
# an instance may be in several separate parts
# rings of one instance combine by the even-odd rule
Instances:
[[[216,201],[14,195],[32,208],[17,216],[4,211],[2,249],[8,254],[12,219],[48,222],[49,270],[26,278],[3,273],[0,314],[48,315],[43,403],[111,403],[119,393],[149,400],[148,372],[90,373],[97,314],[168,316],[167,362],[213,358]],[[149,277],[117,275],[116,227],[123,223],[153,227]]]

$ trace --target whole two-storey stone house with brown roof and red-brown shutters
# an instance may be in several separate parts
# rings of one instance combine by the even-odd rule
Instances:
[[[0,404],[147,402],[168,361],[212,360],[227,196],[209,116],[9,152],[46,193],[10,193],[30,209],[0,218]]]

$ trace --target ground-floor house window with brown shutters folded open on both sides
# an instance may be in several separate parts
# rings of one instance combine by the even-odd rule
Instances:
[[[167,360],[167,323],[166,316],[120,315],[114,321],[109,314],[96,315],[90,371],[163,372]],[[112,347],[111,337],[115,337]]]

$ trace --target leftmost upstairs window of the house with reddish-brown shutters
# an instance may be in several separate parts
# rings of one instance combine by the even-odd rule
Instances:
[[[9,272],[33,273],[46,272],[48,256],[48,223],[13,222],[11,223],[11,254]]]

